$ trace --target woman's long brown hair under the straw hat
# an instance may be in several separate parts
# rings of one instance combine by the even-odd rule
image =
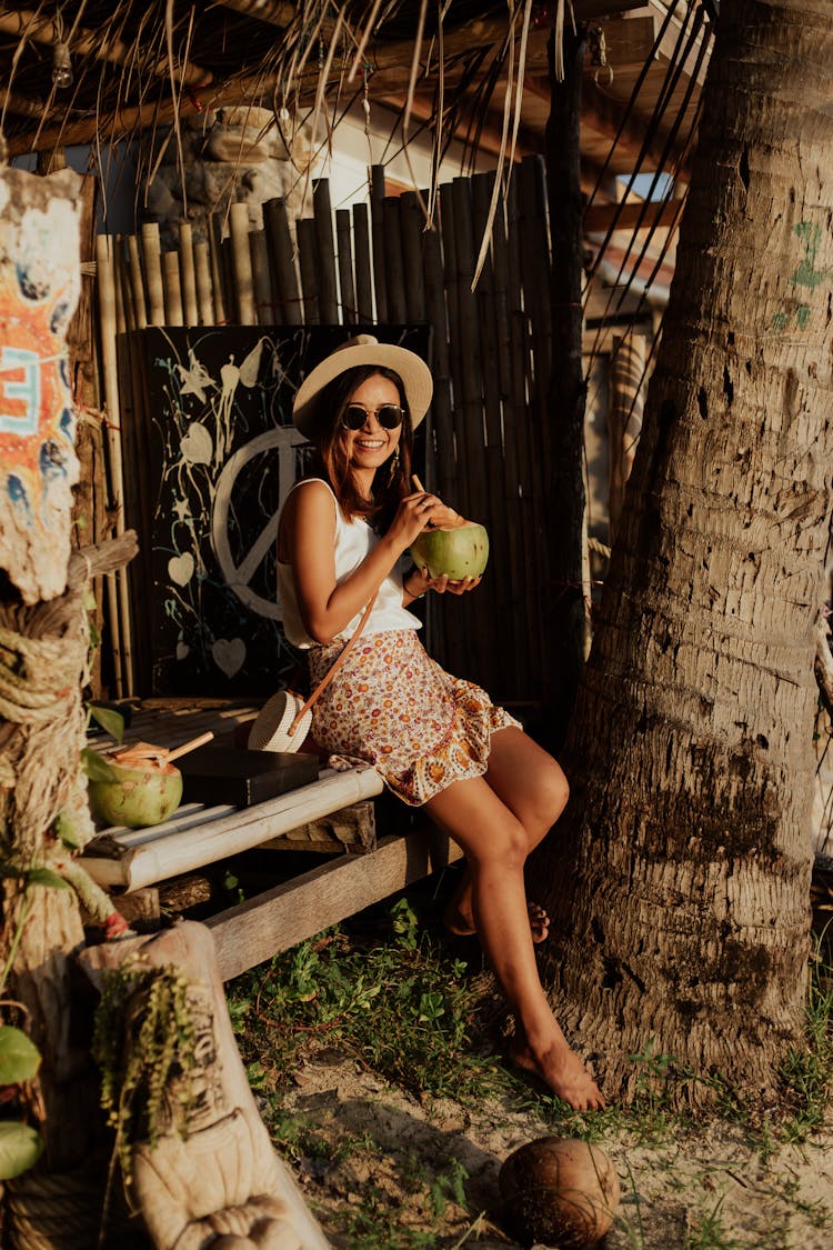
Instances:
[[[400,405],[405,412],[402,435],[397,444],[398,460],[393,461],[393,456],[388,456],[385,464],[376,470],[373,498],[370,500],[363,499],[356,486],[346,455],[346,431],[341,424],[341,418],[356,389],[368,378],[387,378],[392,381],[400,392]],[[342,516],[347,521],[361,516],[370,521],[375,530],[385,532],[393,520],[400,500],[405,495],[410,495],[412,490],[413,428],[400,375],[392,369],[382,369],[380,365],[357,365],[355,369],[347,369],[325,386],[318,401],[318,411],[328,415],[325,418],[326,424],[322,422],[321,428],[316,430],[315,442],[321,466],[338,500]]]

